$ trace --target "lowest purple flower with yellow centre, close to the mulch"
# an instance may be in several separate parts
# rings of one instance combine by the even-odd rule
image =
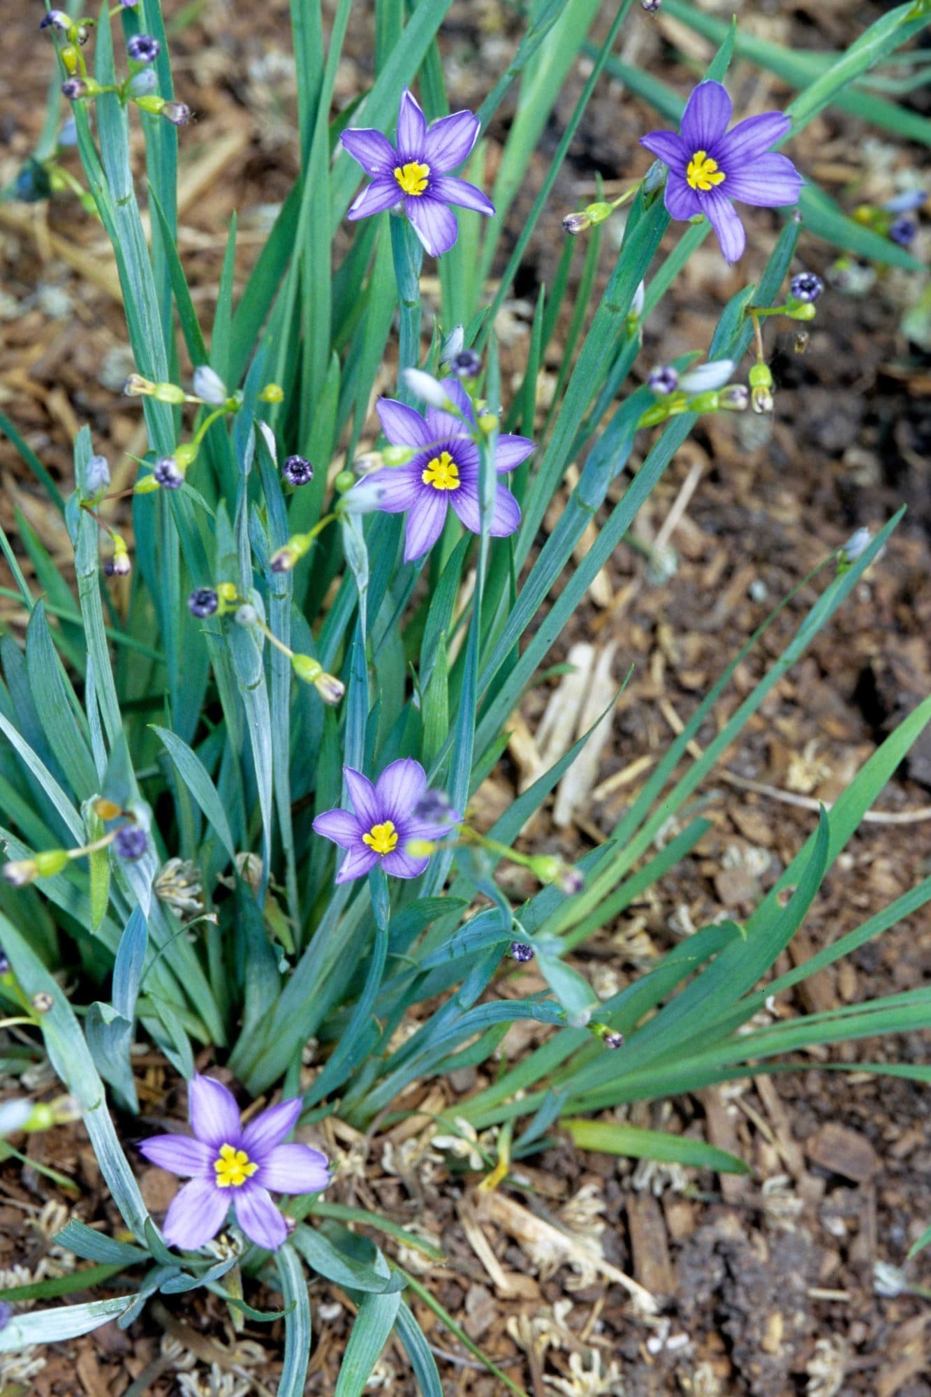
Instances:
[[[169,1246],[197,1252],[224,1225],[229,1204],[250,1242],[270,1250],[281,1246],[288,1228],[271,1201],[274,1193],[319,1193],[330,1182],[326,1157],[306,1144],[282,1144],[301,1115],[301,1098],[253,1116],[243,1127],[239,1106],[212,1077],[187,1083],[194,1137],[152,1136],[141,1153],[159,1169],[190,1178],[165,1217]]]

